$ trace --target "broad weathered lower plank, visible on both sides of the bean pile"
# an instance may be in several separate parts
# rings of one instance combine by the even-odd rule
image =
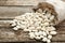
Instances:
[[[28,33],[22,30],[14,31],[12,28],[0,28],[0,42],[25,42],[35,41],[29,39]],[[65,34],[56,34],[52,39],[53,42],[64,42]]]

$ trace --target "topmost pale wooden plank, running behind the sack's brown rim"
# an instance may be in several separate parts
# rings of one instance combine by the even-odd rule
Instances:
[[[37,5],[44,0],[0,0],[0,5]]]

